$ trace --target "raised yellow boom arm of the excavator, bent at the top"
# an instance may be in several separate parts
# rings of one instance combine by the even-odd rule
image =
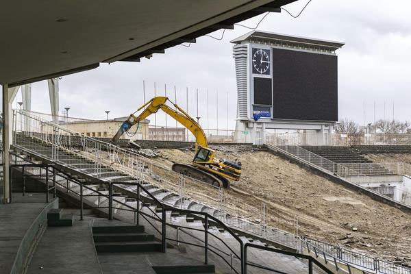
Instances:
[[[140,108],[138,108],[136,112],[142,110],[142,108],[145,108],[145,106],[147,106],[147,108],[145,108],[145,110],[143,110],[140,115],[134,116],[134,114],[136,113],[134,112],[126,121],[124,121],[119,131],[112,138],[112,142],[119,140],[119,138],[133,125],[140,123],[140,121],[146,119],[148,116],[155,112],[158,112],[158,110],[161,109],[166,112],[166,114],[173,117],[173,119],[175,119],[181,125],[190,130],[190,132],[196,137],[198,145],[200,145],[201,147],[208,147],[206,134],[203,132],[203,129],[201,129],[200,125],[178,105],[170,101],[178,111],[173,110],[168,105],[166,105],[166,101],[170,101],[169,98],[154,97],[153,99],[142,105]]]

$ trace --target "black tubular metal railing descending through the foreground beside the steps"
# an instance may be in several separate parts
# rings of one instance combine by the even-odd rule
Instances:
[[[77,177],[72,176],[69,173],[66,173],[65,171],[63,171],[62,169],[59,169],[58,167],[56,167],[54,164],[12,164],[11,168],[21,168],[22,169],[22,188],[23,188],[23,195],[25,195],[25,182],[27,179],[36,179],[39,182],[44,182],[44,184],[47,186],[45,188],[45,193],[46,193],[46,201],[49,201],[49,192],[53,193],[53,196],[55,197],[56,193],[57,193],[57,189],[61,188],[64,192],[68,192],[74,195],[77,195],[79,197],[79,203],[80,203],[80,220],[84,219],[84,202],[85,202],[85,198],[86,197],[98,197],[99,199],[101,197],[105,197],[106,199],[108,199],[108,206],[101,206],[100,202],[97,204],[97,206],[95,206],[95,208],[99,208],[99,209],[104,209],[106,208],[108,210],[108,219],[112,220],[113,219],[113,211],[116,210],[125,210],[125,211],[132,211],[135,214],[135,225],[140,225],[140,216],[142,216],[145,221],[147,221],[147,223],[149,223],[149,225],[151,225],[151,227],[153,227],[153,229],[155,229],[160,235],[161,235],[161,243],[162,243],[162,252],[166,251],[166,241],[170,240],[173,242],[177,242],[177,243],[184,243],[186,245],[192,245],[195,247],[201,247],[202,249],[204,249],[204,264],[208,264],[209,262],[209,253],[213,253],[216,256],[219,256],[219,258],[221,258],[226,264],[228,264],[230,266],[230,268],[232,269],[232,271],[234,271],[234,273],[247,273],[247,265],[249,266],[255,266],[261,269],[266,269],[266,270],[270,270],[273,272],[278,272],[275,269],[269,269],[266,268],[266,266],[262,266],[260,264],[256,264],[253,262],[247,262],[246,260],[246,253],[245,253],[245,247],[253,247],[253,248],[257,248],[257,249],[262,249],[265,251],[272,251],[272,252],[276,252],[276,253],[283,253],[289,256],[294,256],[297,258],[304,258],[309,260],[309,273],[312,273],[312,262],[314,262],[315,264],[317,264],[321,269],[324,269],[327,273],[332,273],[331,271],[327,271],[325,266],[322,266],[321,264],[319,264],[319,262],[316,262],[316,260],[314,258],[312,258],[311,256],[303,256],[300,255],[298,253],[293,253],[293,252],[286,252],[286,251],[281,251],[279,249],[271,249],[271,248],[266,248],[266,247],[261,247],[261,246],[254,246],[251,244],[247,244],[244,245],[244,243],[242,242],[242,240],[239,238],[239,236],[237,236],[232,229],[230,229],[229,227],[227,227],[227,225],[225,225],[225,223],[223,223],[222,221],[220,221],[219,219],[216,219],[214,216],[211,216],[210,214],[208,214],[207,212],[198,212],[198,211],[193,211],[193,210],[184,210],[181,208],[172,208],[173,212],[179,212],[182,213],[184,215],[192,215],[192,216],[202,216],[203,217],[203,226],[204,229],[196,229],[193,227],[185,227],[185,226],[181,226],[181,225],[175,225],[173,223],[168,223],[166,221],[166,209],[171,210],[171,208],[169,208],[169,206],[166,206],[166,204],[162,203],[161,201],[159,201],[158,199],[156,199],[151,192],[149,192],[147,189],[145,189],[142,185],[138,184],[138,183],[127,183],[127,185],[129,186],[136,186],[136,191],[137,191],[137,195],[136,195],[136,207],[134,206],[130,206],[127,203],[124,203],[123,201],[121,201],[120,199],[116,199],[116,196],[114,195],[114,186],[120,186],[123,183],[106,183],[108,184],[108,194],[105,194],[102,192],[102,190],[95,190],[94,188],[90,187],[91,184],[93,184],[93,182],[82,182],[80,179],[78,179]],[[38,174],[33,173],[34,169],[38,169]],[[49,176],[49,173],[52,174],[52,176]],[[71,183],[74,183],[75,185],[79,186],[79,192],[74,192],[71,190],[70,184],[64,184],[59,182],[59,180],[57,180],[56,178],[60,177],[60,178],[64,178],[69,180]],[[49,188],[49,184],[51,183],[51,185],[53,186],[52,188]],[[101,184],[101,182],[96,182],[98,184]],[[12,184],[14,184],[13,179],[10,182],[11,186]],[[84,194],[84,191],[88,190],[89,194]],[[147,202],[143,199],[141,199],[142,192],[145,193],[145,195],[147,197],[149,197],[151,199],[151,201],[153,201],[154,205],[156,207],[159,207],[160,210],[160,214],[161,217],[158,216],[158,212],[155,212],[151,209],[150,205],[147,205]],[[116,203],[116,206],[114,206],[114,203]],[[141,207],[140,207],[141,205]],[[88,206],[90,206],[90,203],[88,203]],[[152,214],[147,214],[146,212],[142,212],[142,207],[146,207],[148,210],[151,211]],[[157,221],[161,223],[161,229],[158,229],[156,227],[155,224],[151,223],[150,219],[152,221]],[[236,251],[234,251],[231,247],[229,247],[228,245],[225,244],[225,241],[222,240],[221,238],[219,238],[218,236],[211,234],[208,231],[208,228],[210,227],[210,225],[217,225],[219,227],[222,227],[226,232],[228,232],[234,239],[236,239],[236,241],[238,242],[238,245],[240,247],[240,251],[237,253]],[[193,238],[195,238],[196,240],[200,240],[201,242],[203,242],[203,245],[197,245],[193,242],[186,242],[186,241],[182,241],[179,239],[178,236],[178,232],[176,234],[176,238],[170,238],[169,236],[167,236],[167,229],[166,227],[173,227],[174,229],[177,229],[177,231],[181,231],[181,232],[185,232],[184,230],[194,230],[197,232],[202,232],[204,234],[204,240],[201,240],[199,238],[196,238],[195,236],[192,236]],[[232,253],[227,253],[225,251],[222,251],[221,249],[219,249],[218,247],[214,247],[212,245],[209,245],[209,236],[212,236],[213,238],[215,238],[216,240],[219,240],[220,242],[223,243],[223,245],[225,245],[225,247],[227,247],[227,249],[229,249],[229,251],[231,251]],[[233,257],[234,255],[234,257]],[[224,256],[231,256],[231,260],[230,262],[224,258]],[[236,260],[239,260],[240,262],[240,271],[238,271],[237,269],[234,268],[233,266],[233,258],[235,258]]]

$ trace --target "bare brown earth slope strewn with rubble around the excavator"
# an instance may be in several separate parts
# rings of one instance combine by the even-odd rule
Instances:
[[[266,151],[241,146],[214,149],[219,150],[218,158],[242,162],[240,181],[232,182],[232,188],[225,191],[227,212],[260,221],[265,203],[266,220],[273,227],[411,265],[411,213],[377,202]],[[190,163],[194,157],[192,149],[158,152],[160,156],[153,161],[170,169],[174,162]],[[411,155],[406,158],[411,162]],[[208,192],[206,189],[204,192]]]

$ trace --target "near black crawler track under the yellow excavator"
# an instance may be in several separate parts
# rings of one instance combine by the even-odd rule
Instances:
[[[206,184],[211,184],[212,186],[229,188],[229,181],[227,179],[217,177],[206,171],[201,171],[197,166],[192,166],[191,164],[173,164],[171,169],[187,177],[192,177]]]

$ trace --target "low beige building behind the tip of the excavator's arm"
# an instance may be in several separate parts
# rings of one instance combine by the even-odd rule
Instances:
[[[60,122],[60,125],[89,137],[112,138],[127,118],[128,116],[114,118],[112,120],[69,121]],[[121,136],[121,138],[129,140],[142,140],[149,138],[149,123],[150,121],[147,119],[141,121],[138,124],[138,129],[137,125],[134,125],[131,129],[129,129],[128,132],[133,136],[128,136],[125,133]],[[134,134],[134,132],[136,132],[136,134]]]

